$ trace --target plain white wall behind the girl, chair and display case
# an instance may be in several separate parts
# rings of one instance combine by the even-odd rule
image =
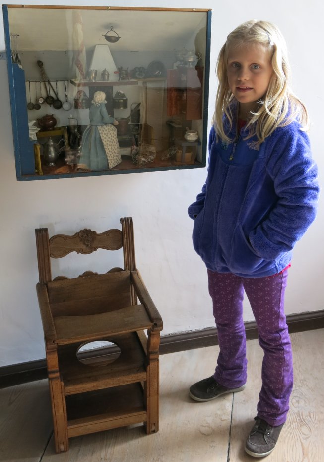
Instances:
[[[39,4],[53,4],[53,1],[42,0]],[[62,4],[72,2],[62,1]],[[77,4],[89,3],[80,0]],[[99,0],[94,3],[105,4]],[[197,6],[193,0],[176,3],[115,0],[110,4]],[[322,171],[323,2],[250,0],[240,4],[237,0],[204,0],[199,7],[213,9],[209,119],[216,91],[216,56],[227,34],[248,19],[275,22],[288,42],[294,89],[309,109],[314,157]],[[40,37],[46,33],[46,24],[31,26],[40,28]],[[135,27],[136,24],[134,33]],[[4,50],[3,32],[0,50]],[[205,169],[17,182],[4,60],[0,60],[0,89],[0,366],[45,357],[35,292],[38,270],[34,229],[37,227],[48,226],[50,233],[90,227],[104,231],[119,227],[120,217],[132,216],[137,266],[162,314],[162,333],[212,326],[206,270],[192,248],[193,223],[187,217],[187,207],[204,182]],[[321,181],[323,188],[323,177]],[[288,314],[324,308],[323,226],[322,201],[316,222],[295,249],[286,296]],[[245,320],[252,319],[246,302]]]

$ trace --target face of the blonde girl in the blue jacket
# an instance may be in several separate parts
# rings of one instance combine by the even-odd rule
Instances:
[[[269,51],[259,43],[231,47],[227,60],[228,84],[240,103],[239,117],[246,119],[266,93],[272,65]]]

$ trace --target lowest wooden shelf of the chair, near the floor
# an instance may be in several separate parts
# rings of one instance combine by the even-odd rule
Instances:
[[[140,384],[68,396],[66,409],[69,438],[146,420]]]

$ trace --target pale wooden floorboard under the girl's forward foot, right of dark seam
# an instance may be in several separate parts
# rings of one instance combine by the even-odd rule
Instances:
[[[267,462],[319,462],[324,460],[324,329],[291,335],[294,388],[290,410],[275,450]],[[256,415],[263,352],[257,340],[248,342],[248,382],[236,393],[228,462],[257,459],[244,452],[244,444]]]

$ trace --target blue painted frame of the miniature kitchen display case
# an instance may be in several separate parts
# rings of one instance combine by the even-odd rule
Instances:
[[[143,173],[150,171],[167,171],[167,170],[183,170],[193,168],[203,168],[206,166],[207,156],[207,124],[208,124],[208,93],[209,93],[209,68],[210,68],[210,38],[211,38],[211,10],[206,10],[206,58],[204,72],[204,99],[202,111],[203,117],[203,136],[202,136],[202,162],[200,164],[188,164],[179,166],[165,167],[145,167],[129,170],[102,170],[82,173],[64,173],[53,175],[38,175],[35,174],[35,159],[34,159],[34,142],[29,140],[28,117],[26,112],[26,87],[25,73],[17,63],[11,60],[10,46],[10,30],[8,18],[8,5],[2,5],[4,37],[7,57],[7,69],[9,79],[9,95],[11,106],[11,120],[13,145],[15,154],[16,177],[18,181],[30,180],[45,180],[58,178],[75,178],[84,176],[103,176],[103,175],[119,175],[124,173]]]

